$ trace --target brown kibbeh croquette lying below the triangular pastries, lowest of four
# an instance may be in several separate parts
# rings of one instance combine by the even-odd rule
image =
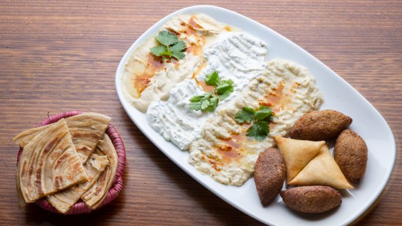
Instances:
[[[304,186],[280,192],[284,203],[292,210],[320,214],[341,205],[341,193],[327,186]]]

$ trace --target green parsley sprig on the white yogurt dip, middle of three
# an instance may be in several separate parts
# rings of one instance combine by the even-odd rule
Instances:
[[[233,80],[221,80],[216,71],[205,76],[204,81],[215,89],[190,99],[190,109],[195,111],[213,111],[220,100],[226,99],[233,92]]]

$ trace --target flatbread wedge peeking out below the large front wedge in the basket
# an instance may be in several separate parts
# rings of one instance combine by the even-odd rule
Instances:
[[[91,181],[86,181],[84,183],[79,183],[72,188],[67,188],[61,192],[56,192],[51,196],[47,197],[47,201],[53,205],[56,210],[61,213],[66,213],[70,208],[80,199],[92,185],[98,180],[100,174],[103,173],[107,167],[109,160],[107,160],[106,155],[99,156],[92,154],[88,161],[85,162],[85,169],[88,174],[92,177]]]

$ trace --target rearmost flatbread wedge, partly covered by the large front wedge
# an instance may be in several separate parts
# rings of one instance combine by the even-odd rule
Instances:
[[[110,122],[110,117],[100,113],[81,113],[65,118],[68,129],[72,135],[72,141],[82,162],[87,161],[89,155],[94,152],[96,144],[103,137]],[[41,133],[50,125],[28,129],[14,137],[14,142],[22,148],[37,134]]]

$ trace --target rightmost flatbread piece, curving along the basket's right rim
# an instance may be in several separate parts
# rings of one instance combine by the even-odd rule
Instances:
[[[94,151],[97,155],[105,155],[109,159],[109,166],[100,175],[98,181],[89,188],[81,199],[87,204],[87,206],[92,209],[99,207],[103,200],[106,198],[107,192],[109,191],[114,177],[116,176],[116,170],[118,167],[118,156],[116,149],[112,143],[112,140],[107,134],[103,135],[103,139],[100,139],[96,150]]]

